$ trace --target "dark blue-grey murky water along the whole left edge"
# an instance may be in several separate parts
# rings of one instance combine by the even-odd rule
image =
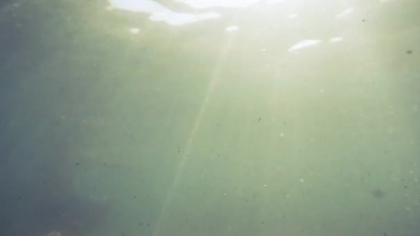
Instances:
[[[0,10],[12,3],[1,0]],[[55,20],[40,9],[0,11],[0,235],[86,235],[108,207],[73,188],[83,133],[75,119],[59,119],[61,107],[75,111],[64,96],[52,97],[59,73],[48,73],[55,68],[41,61],[57,53],[55,35],[44,40]]]

